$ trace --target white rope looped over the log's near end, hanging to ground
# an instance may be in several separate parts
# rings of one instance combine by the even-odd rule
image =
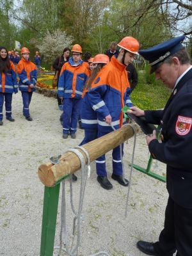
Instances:
[[[84,154],[86,154],[86,157],[87,157],[87,160],[88,160],[88,166],[90,166],[90,157],[88,155],[88,152],[83,147],[77,146],[75,148],[80,148],[81,150],[83,150],[83,152],[84,152]],[[74,217],[73,236],[75,236],[75,231],[76,231],[76,227],[77,227],[77,243],[76,243],[76,246],[75,246],[74,250],[72,250],[72,246],[73,246],[73,243],[74,243],[74,237],[73,237],[71,248],[69,250],[69,248],[68,248],[68,239],[67,239],[67,225],[66,225],[65,179],[63,179],[63,181],[62,181],[62,202],[61,202],[60,246],[54,246],[54,249],[60,249],[59,255],[61,255],[61,250],[63,250],[68,255],[74,256],[74,253],[77,252],[77,250],[79,248],[80,241],[81,241],[81,223],[80,222],[81,222],[81,218],[83,216],[83,214],[81,214],[81,211],[82,211],[82,207],[83,207],[84,188],[85,188],[85,184],[86,184],[86,180],[84,180],[85,161],[84,161],[83,154],[81,154],[81,152],[79,152],[79,150],[76,150],[75,148],[68,149],[67,151],[64,152],[64,154],[66,152],[73,152],[74,154],[76,154],[79,157],[79,160],[81,161],[81,189],[80,189],[80,196],[79,196],[78,212],[75,211],[74,205],[73,205],[73,202],[72,202],[72,174],[70,174],[70,204],[71,204],[71,207],[72,207],[72,211],[76,215]],[[90,176],[89,172],[90,172],[90,168],[88,168],[88,177]],[[76,220],[77,220],[77,224],[76,224]],[[66,248],[62,247],[62,233],[64,233]],[[96,256],[96,255],[100,255],[100,254],[105,254],[107,256],[110,256],[108,253],[102,252],[102,251],[98,252],[98,253],[95,253],[93,255],[88,255],[88,256]]]

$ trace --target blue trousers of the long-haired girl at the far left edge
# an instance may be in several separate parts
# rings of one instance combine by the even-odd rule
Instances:
[[[0,121],[3,120],[3,103],[5,105],[6,118],[12,118],[13,93],[0,92]]]

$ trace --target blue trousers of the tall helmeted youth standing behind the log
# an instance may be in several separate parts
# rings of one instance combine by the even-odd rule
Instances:
[[[101,132],[98,131],[98,138],[108,134],[109,132]],[[122,143],[122,156],[124,155],[124,143]],[[120,145],[116,148],[113,148],[112,152],[113,156],[113,174],[115,175],[122,175],[123,168],[122,168],[122,161],[120,157]],[[107,176],[106,171],[106,155],[102,155],[95,160],[96,163],[96,170],[97,175],[99,176]]]

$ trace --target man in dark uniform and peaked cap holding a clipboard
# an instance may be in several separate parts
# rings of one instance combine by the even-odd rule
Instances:
[[[138,241],[147,255],[192,255],[192,69],[188,52],[181,42],[185,36],[173,38],[150,49],[139,51],[149,61],[150,74],[155,72],[172,95],[163,110],[143,111],[132,107],[136,116],[145,116],[150,124],[161,124],[161,140],[146,138],[150,154],[166,164],[166,188],[169,193],[164,229],[159,241]]]

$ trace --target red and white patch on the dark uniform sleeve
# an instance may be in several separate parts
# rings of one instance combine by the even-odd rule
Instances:
[[[186,116],[178,116],[175,131],[177,134],[184,136],[191,130],[192,118]]]

